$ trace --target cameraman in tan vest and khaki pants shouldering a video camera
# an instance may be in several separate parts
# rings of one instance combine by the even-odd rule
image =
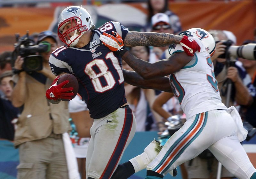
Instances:
[[[12,79],[16,84],[12,104],[22,108],[14,137],[14,145],[19,147],[20,153],[18,178],[68,179],[63,142],[63,137],[71,129],[68,102],[51,104],[45,98],[46,89],[55,79],[48,61],[52,51],[57,48],[57,35],[43,31],[38,35],[39,43],[48,43],[50,47],[39,53],[43,59],[41,70],[25,71],[24,58],[21,56],[17,57],[13,68],[15,75]]]

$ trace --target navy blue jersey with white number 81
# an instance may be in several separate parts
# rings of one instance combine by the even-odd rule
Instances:
[[[52,73],[72,73],[79,82],[78,93],[92,118],[102,118],[126,103],[122,59],[100,41],[103,32],[115,31],[124,39],[128,29],[119,22],[107,22],[92,30],[91,41],[82,48],[62,46],[52,52]]]

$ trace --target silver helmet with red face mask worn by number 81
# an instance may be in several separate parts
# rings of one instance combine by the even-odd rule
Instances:
[[[71,22],[71,28],[63,32],[65,25]],[[75,22],[76,25],[74,25]],[[92,17],[84,8],[80,6],[69,6],[64,9],[58,19],[58,35],[62,42],[68,47],[74,47],[79,38],[87,32],[90,28],[94,28]],[[74,35],[69,37],[69,33],[74,31]],[[78,32],[77,32],[78,31]],[[69,35],[68,35],[69,34]]]

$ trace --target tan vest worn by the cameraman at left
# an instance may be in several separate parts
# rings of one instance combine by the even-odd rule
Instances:
[[[14,80],[14,82],[17,82]],[[51,133],[62,134],[71,129],[68,118],[68,102],[49,103],[45,91],[52,81],[47,78],[46,84],[26,75],[27,94],[23,111],[16,123],[14,145],[48,137]]]

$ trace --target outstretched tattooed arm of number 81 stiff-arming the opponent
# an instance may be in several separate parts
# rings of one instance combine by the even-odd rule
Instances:
[[[179,44],[182,37],[183,36],[173,35],[170,33],[128,32],[124,39],[124,46],[164,47],[170,44]]]

